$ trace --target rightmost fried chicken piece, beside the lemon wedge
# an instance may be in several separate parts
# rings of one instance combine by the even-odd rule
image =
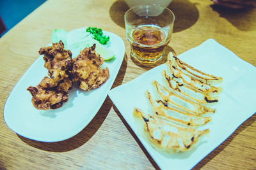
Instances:
[[[74,58],[72,81],[77,82],[83,90],[96,89],[109,78],[108,67],[101,69],[104,59],[95,52],[96,45],[84,48]]]

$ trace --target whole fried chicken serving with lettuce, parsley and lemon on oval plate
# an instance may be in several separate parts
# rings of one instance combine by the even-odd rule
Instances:
[[[27,89],[32,95],[33,106],[38,110],[60,108],[68,101],[72,83],[77,83],[80,89],[91,90],[106,82],[109,69],[102,69],[102,64],[115,57],[115,53],[105,46],[108,43],[109,36],[104,36],[102,29],[97,27],[70,32],[54,29],[52,46],[39,50],[39,54],[44,55],[49,77],[45,76],[36,87]]]

